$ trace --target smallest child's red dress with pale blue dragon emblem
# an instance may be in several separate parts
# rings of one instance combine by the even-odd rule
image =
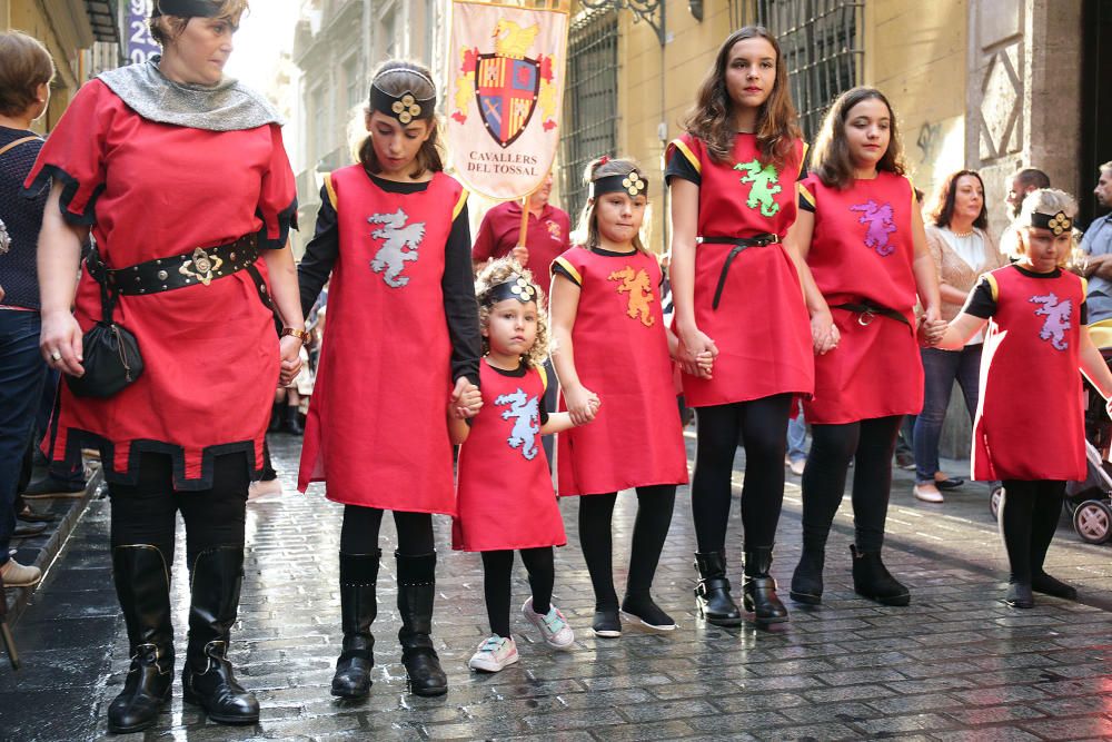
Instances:
[[[459,514],[451,547],[465,552],[563,546],[564,520],[540,447],[545,379],[479,366],[483,410],[459,448]]]

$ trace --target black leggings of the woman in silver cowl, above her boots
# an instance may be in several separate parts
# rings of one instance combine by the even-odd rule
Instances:
[[[167,564],[173,562],[176,514],[186,522],[186,557],[192,568],[197,555],[221,546],[244,547],[247,487],[250,472],[241,454],[217,456],[212,488],[173,491],[173,463],[168,454],[139,456],[136,484],[109,483],[112,502],[112,547],[157,546]]]

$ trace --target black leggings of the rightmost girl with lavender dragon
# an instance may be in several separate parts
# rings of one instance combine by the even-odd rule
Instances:
[[[1000,535],[1004,538],[1011,582],[1031,584],[1043,573],[1046,550],[1058,531],[1065,482],[1004,481],[1000,502]]]

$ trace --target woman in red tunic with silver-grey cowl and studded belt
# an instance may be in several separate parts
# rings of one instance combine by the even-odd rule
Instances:
[[[27,180],[33,190],[53,179],[39,243],[43,355],[83,374],[81,333],[107,318],[105,291],[145,364],[108,398],[63,385],[53,452],[76,462],[83,446],[98,446],[105,462],[112,575],[132,657],[108,709],[113,732],[150,726],[170,694],[178,509],[192,591],[183,698],[214,721],[259,716],[226,653],[244,578],[247,488],[262,468],[274,388],[297,372],[304,324],[280,119],[221,71],[246,7],[159,0],[151,32],[161,58],[86,85]],[[96,248],[75,317],[73,276],[90,228]],[[287,326],[280,344],[270,297]]]

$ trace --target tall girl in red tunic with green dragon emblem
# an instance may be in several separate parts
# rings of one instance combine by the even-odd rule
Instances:
[[[810,395],[814,360],[797,256],[785,250],[805,146],[776,39],[746,27],[726,38],[668,147],[672,290],[687,405],[698,449],[692,514],[696,609],[737,625],[726,578],[726,523],[737,443],[745,446],[744,603],[761,623],[787,620],[768,575],[784,499],[792,396]],[[696,373],[699,353],[714,375]]]

